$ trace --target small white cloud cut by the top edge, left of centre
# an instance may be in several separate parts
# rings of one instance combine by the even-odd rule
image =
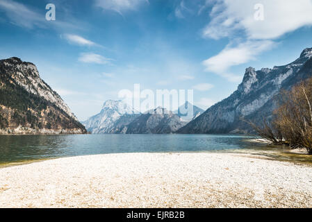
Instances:
[[[104,10],[113,10],[122,15],[125,10],[136,10],[142,2],[149,3],[148,0],[95,0],[95,6]]]

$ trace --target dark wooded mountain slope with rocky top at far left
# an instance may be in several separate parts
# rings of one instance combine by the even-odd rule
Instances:
[[[0,60],[0,134],[86,133],[67,104],[19,58]]]

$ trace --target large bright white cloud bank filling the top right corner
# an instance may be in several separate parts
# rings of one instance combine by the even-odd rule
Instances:
[[[268,40],[312,25],[311,0],[215,0],[214,3],[212,20],[204,29],[204,36],[213,39],[244,31],[249,39]],[[254,6],[258,3],[264,7],[263,21],[254,19]]]

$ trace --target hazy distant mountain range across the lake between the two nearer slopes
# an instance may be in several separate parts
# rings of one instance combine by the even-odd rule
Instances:
[[[187,102],[184,107],[188,105],[192,104]],[[204,112],[195,106],[193,110],[196,115]],[[173,113],[158,107],[141,114],[122,101],[108,100],[99,114],[90,117],[83,124],[90,133],[95,134],[169,134],[187,123],[182,118],[183,114],[179,110]]]

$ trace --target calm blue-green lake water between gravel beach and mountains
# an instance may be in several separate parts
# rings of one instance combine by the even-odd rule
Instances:
[[[278,160],[312,163],[312,157],[290,153],[239,135],[0,135],[0,164],[53,157],[104,153],[233,152]]]

